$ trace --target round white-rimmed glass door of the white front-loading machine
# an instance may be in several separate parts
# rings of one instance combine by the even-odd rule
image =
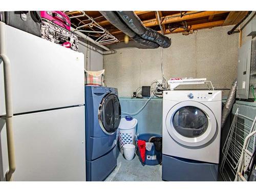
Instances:
[[[183,101],[174,105],[165,123],[169,135],[176,142],[191,147],[208,143],[217,132],[214,114],[197,101]]]

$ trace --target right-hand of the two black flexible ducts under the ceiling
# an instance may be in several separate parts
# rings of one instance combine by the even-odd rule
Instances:
[[[143,39],[154,41],[162,48],[167,48],[172,43],[170,38],[165,35],[151,28],[144,27],[140,18],[133,11],[117,11],[117,14],[130,29]]]

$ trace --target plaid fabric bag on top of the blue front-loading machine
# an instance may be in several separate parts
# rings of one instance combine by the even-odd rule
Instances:
[[[86,86],[104,86],[104,72],[84,70],[84,84]]]

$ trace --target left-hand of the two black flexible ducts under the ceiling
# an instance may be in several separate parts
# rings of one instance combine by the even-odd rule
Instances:
[[[126,26],[122,20],[118,17],[118,15],[114,11],[100,11],[100,13],[109,20],[109,22],[122,31],[124,34],[131,37],[134,41],[138,42],[141,45],[146,46],[147,48],[155,49],[158,48],[159,45],[153,41],[146,40],[137,35],[134,31],[132,31],[128,26]]]

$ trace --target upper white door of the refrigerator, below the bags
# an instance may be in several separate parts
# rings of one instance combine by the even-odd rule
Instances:
[[[84,57],[16,28],[0,25],[1,46],[11,63],[13,113],[84,104]],[[4,52],[4,49],[0,49]],[[5,114],[3,62],[0,60],[0,116]]]

